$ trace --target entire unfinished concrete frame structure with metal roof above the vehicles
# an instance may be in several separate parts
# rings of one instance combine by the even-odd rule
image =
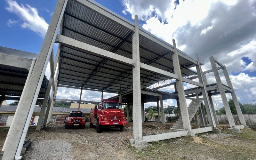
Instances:
[[[59,28],[60,34],[57,33]],[[53,60],[54,43],[59,43],[55,60]],[[227,100],[225,92],[232,92],[235,98],[233,88],[223,85],[218,79],[217,73],[215,74],[217,84],[213,87],[207,84],[205,73],[210,71],[203,72],[201,70],[203,64],[199,62],[198,57],[197,60],[194,60],[178,50],[174,40],[172,46],[140,28],[138,16],[135,16],[135,23],[133,23],[92,0],[58,0],[35,67],[28,80],[27,89],[22,92],[23,98],[20,100],[15,113],[16,118],[10,127],[12,132],[5,142],[4,159],[20,158],[18,148],[24,142],[20,139],[29,116],[28,106],[33,106],[36,103],[34,97],[38,95],[39,84],[42,83],[49,60],[51,77],[39,117],[39,120],[42,120],[44,109],[47,107],[46,120],[43,125],[47,125],[49,122],[59,86],[79,88],[81,93],[83,90],[99,91],[102,92],[102,96],[103,92],[117,93],[118,99],[122,103],[133,106],[133,138],[130,142],[138,148],[147,146],[148,142],[154,140],[217,130],[214,119],[215,112],[211,106],[209,94],[220,92],[225,105],[224,101]],[[219,64],[219,62],[217,63]],[[215,68],[214,64],[212,65],[212,71],[215,73],[218,68],[216,65]],[[191,67],[196,67],[197,71],[190,69]],[[221,65],[221,68],[225,69],[225,66]],[[53,77],[55,73],[56,77]],[[193,81],[196,78],[199,79],[199,83]],[[149,86],[159,81],[169,79],[174,79],[175,82],[167,85],[175,85],[177,92],[167,93],[157,91],[157,88],[148,89]],[[198,87],[189,92],[184,91],[183,82]],[[53,89],[48,103],[51,85]],[[160,87],[163,86],[158,88]],[[125,102],[125,94],[128,95],[129,92],[132,94],[132,98]],[[198,95],[202,95],[203,99],[199,99]],[[186,98],[192,99],[193,96],[196,96],[196,99],[193,99],[193,104],[188,107]],[[160,100],[160,108],[163,113],[163,100],[168,98],[178,101],[180,119],[176,127],[181,130],[143,136],[141,125],[142,112],[144,112],[143,103],[152,99]],[[202,111],[202,100],[204,100],[208,118]],[[79,101],[81,102],[81,94]],[[225,106],[226,108],[227,106]],[[204,115],[204,126],[192,129],[190,121],[198,109]],[[239,106],[237,110],[239,110]],[[229,111],[230,109],[227,108],[226,112]],[[164,124],[163,118],[162,123]],[[237,127],[232,120],[230,120],[230,126],[235,131],[239,131],[241,128]],[[38,125],[37,130],[40,130],[40,127]],[[8,143],[8,141],[12,143]]]

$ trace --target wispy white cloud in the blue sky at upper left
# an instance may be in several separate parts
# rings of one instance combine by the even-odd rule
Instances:
[[[5,9],[20,17],[20,20],[22,21],[20,26],[22,28],[28,28],[36,32],[39,36],[45,36],[48,24],[45,22],[44,18],[38,15],[36,8],[31,7],[28,4],[25,4],[25,6],[23,4],[19,5],[13,0],[7,0],[6,2],[8,6]]]

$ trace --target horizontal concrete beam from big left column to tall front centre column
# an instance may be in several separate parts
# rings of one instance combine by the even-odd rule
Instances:
[[[113,52],[103,50],[101,48],[95,47],[95,46],[90,45],[90,44],[83,43],[81,41],[77,41],[75,39],[72,39],[72,38],[69,38],[69,37],[66,37],[66,36],[63,36],[63,35],[58,34],[57,37],[56,37],[55,42],[60,43],[60,44],[65,45],[65,46],[69,46],[69,47],[72,47],[72,48],[82,50],[84,52],[93,53],[93,54],[96,54],[96,55],[101,56],[101,57],[106,57],[106,58],[111,59],[111,60],[115,60],[115,61],[118,61],[118,62],[121,62],[121,63],[124,63],[124,64],[128,64],[130,66],[132,66],[134,64],[134,60],[132,60],[130,58],[121,56],[121,55],[113,53]]]

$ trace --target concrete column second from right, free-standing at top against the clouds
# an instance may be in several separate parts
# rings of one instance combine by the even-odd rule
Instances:
[[[228,99],[226,97],[226,94],[225,94],[225,91],[224,91],[224,88],[223,88],[223,85],[222,85],[222,82],[221,82],[221,79],[220,79],[220,75],[219,75],[219,72],[217,70],[216,63],[215,63],[215,60],[214,60],[213,56],[210,57],[210,62],[211,62],[211,65],[212,65],[213,74],[214,74],[216,82],[217,82],[218,90],[220,92],[221,100],[223,102],[223,105],[224,105],[224,108],[225,108],[225,111],[226,111],[226,115],[228,117],[228,123],[230,125],[230,128],[236,128],[236,124],[235,124],[235,121],[233,119],[231,110],[229,108]]]

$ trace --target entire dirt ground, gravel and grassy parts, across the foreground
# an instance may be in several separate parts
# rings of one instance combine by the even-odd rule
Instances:
[[[172,124],[145,122],[143,134],[170,132]],[[256,131],[244,129],[242,134],[225,130],[221,134],[204,133],[195,137],[151,143],[142,151],[129,145],[132,137],[132,122],[124,132],[108,129],[97,133],[95,128],[65,130],[63,125],[47,127],[32,135],[36,139],[23,159],[256,159]]]

